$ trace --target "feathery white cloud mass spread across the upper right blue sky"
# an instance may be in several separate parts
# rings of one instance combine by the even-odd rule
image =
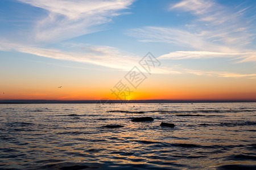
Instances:
[[[127,35],[142,42],[166,42],[188,47],[195,52],[171,52],[160,58],[214,58],[230,57],[238,62],[255,62],[255,49],[251,42],[251,24],[243,17],[249,7],[234,11],[209,0],[184,0],[170,6],[170,10],[190,12],[196,19],[180,28],[134,28]]]

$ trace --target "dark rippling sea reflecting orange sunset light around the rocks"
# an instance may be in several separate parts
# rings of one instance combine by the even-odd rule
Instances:
[[[256,103],[0,104],[0,169],[256,169],[255,125]]]

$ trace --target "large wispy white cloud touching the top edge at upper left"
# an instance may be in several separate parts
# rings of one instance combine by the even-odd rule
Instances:
[[[46,11],[30,32],[30,41],[56,42],[102,30],[119,10],[128,8],[133,0],[18,0]],[[31,30],[31,29],[30,29]],[[23,37],[24,39],[26,37]]]

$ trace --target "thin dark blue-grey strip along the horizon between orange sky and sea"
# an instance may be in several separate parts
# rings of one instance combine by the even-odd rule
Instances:
[[[0,100],[0,104],[255,103],[256,100]]]

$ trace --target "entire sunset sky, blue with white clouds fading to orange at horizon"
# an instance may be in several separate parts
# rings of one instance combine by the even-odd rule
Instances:
[[[256,100],[256,1],[1,0],[0,100]]]

